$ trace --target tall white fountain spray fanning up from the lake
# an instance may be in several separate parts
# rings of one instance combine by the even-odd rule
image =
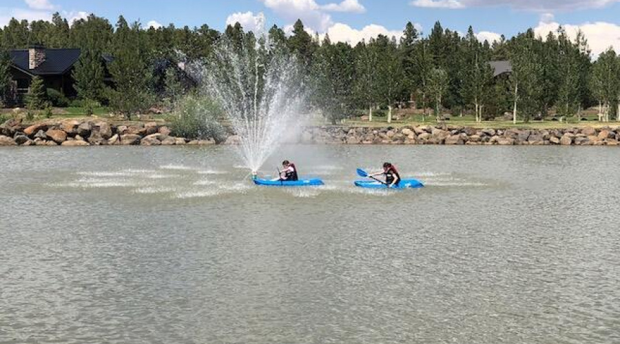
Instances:
[[[265,19],[259,18],[254,33],[224,34],[208,61],[187,68],[199,80],[201,94],[223,107],[244,164],[254,172],[304,122],[297,60],[265,33]]]

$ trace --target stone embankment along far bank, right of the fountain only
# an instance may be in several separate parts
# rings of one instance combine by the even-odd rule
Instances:
[[[302,133],[303,143],[325,144],[468,144],[617,146],[620,127],[570,129],[477,129],[431,125],[420,127],[313,127]]]

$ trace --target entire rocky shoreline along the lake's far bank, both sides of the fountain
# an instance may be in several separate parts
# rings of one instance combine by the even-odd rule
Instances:
[[[0,125],[0,146],[210,145],[216,140],[190,140],[171,136],[166,125],[147,122],[116,125],[105,120],[63,120],[24,125],[8,120]],[[304,144],[467,144],[619,146],[620,127],[569,129],[477,129],[453,125],[417,127],[306,127],[289,140]],[[231,135],[222,142],[235,144]]]

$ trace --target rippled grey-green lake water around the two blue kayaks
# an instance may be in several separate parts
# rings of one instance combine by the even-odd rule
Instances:
[[[620,150],[0,149],[0,343],[618,343]],[[424,189],[356,189],[387,160]]]

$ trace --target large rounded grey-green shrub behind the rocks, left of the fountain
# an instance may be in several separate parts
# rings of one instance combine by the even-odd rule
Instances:
[[[174,136],[192,139],[224,138],[224,128],[218,122],[222,110],[213,100],[200,96],[185,96],[173,112],[170,129]]]

